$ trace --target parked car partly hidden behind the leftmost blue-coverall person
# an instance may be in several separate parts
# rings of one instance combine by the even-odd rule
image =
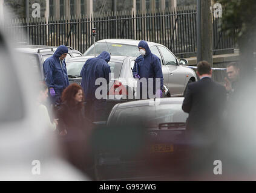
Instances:
[[[26,46],[19,46],[16,48],[20,54],[25,54],[25,57],[29,60],[33,68],[36,68],[36,71],[39,74],[41,80],[44,79],[44,72],[43,72],[43,63],[48,57],[54,54],[57,47],[55,46],[44,46],[44,45],[26,45]],[[66,60],[71,57],[76,57],[82,55],[81,52],[77,51],[68,46],[68,55]]]

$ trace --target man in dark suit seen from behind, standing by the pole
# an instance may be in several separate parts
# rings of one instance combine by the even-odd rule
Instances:
[[[195,164],[192,163],[192,169],[199,171],[201,168],[213,174],[214,160],[209,158],[215,151],[212,148],[218,145],[218,140],[222,136],[226,90],[224,86],[212,81],[212,69],[208,62],[202,61],[197,64],[197,75],[200,80],[188,84],[182,109],[189,113],[186,133],[193,150],[191,158]],[[205,170],[203,165],[208,168]]]

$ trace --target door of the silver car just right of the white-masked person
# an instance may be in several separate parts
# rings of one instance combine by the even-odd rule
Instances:
[[[163,57],[163,64],[167,68],[168,73],[168,89],[171,95],[183,95],[186,74],[182,71],[182,66],[177,63],[176,57],[169,49],[164,46],[158,46]]]

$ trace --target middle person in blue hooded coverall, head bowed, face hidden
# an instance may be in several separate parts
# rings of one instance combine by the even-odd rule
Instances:
[[[96,89],[102,84],[95,85],[95,83],[97,78],[105,78],[107,84],[110,82],[111,71],[108,62],[110,62],[110,54],[103,51],[96,58],[88,59],[80,72],[81,86],[85,93],[85,101],[87,101],[87,117],[91,121],[106,121],[107,119],[106,98],[97,99],[95,96]]]

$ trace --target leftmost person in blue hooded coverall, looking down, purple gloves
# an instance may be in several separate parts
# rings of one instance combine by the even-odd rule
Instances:
[[[49,88],[51,103],[53,104],[60,103],[62,91],[69,85],[65,63],[67,54],[67,46],[61,45],[43,64],[45,83]]]

